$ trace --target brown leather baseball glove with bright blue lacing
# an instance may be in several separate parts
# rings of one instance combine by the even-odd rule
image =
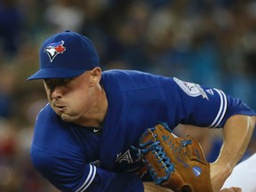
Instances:
[[[210,165],[197,140],[177,137],[167,124],[156,124],[140,136],[137,149],[157,185],[175,192],[212,192]]]

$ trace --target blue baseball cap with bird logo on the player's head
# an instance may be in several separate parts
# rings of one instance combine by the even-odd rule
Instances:
[[[92,41],[76,32],[65,31],[47,38],[39,52],[40,68],[29,80],[72,78],[100,67]]]

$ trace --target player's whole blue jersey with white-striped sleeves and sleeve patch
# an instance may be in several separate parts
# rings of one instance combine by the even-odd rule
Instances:
[[[31,157],[62,191],[142,192],[134,172],[144,166],[131,146],[157,122],[222,127],[229,116],[255,112],[215,88],[132,70],[108,70],[100,84],[108,98],[102,132],[63,122],[50,105],[36,118]],[[200,131],[200,130],[199,130]]]

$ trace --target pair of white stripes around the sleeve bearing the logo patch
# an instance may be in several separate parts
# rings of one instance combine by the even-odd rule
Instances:
[[[227,97],[226,97],[225,93],[220,90],[217,90],[217,89],[214,89],[214,90],[216,92],[218,92],[218,94],[220,95],[220,109],[219,109],[219,112],[218,112],[217,116],[215,117],[214,121],[210,125],[210,127],[217,127],[220,124],[220,122],[227,110]],[[217,122],[217,124],[216,124],[216,122]]]

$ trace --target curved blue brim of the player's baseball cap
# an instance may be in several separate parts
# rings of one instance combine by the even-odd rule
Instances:
[[[85,69],[80,68],[41,68],[34,75],[29,76],[27,81],[47,78],[72,78],[80,76]]]

